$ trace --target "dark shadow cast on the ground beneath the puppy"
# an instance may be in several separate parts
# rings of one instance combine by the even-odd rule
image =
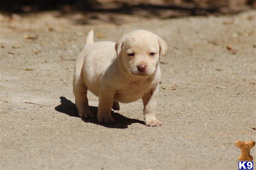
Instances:
[[[56,111],[65,113],[69,116],[79,117],[78,110],[76,109],[76,104],[74,104],[72,101],[68,100],[67,98],[65,98],[63,96],[61,96],[60,99],[61,99],[61,104],[55,107]],[[98,107],[90,106],[90,110],[93,113],[95,113],[95,115],[96,115],[96,113],[98,111]],[[96,118],[90,118],[90,119],[82,118],[82,120],[87,123],[93,123],[93,124],[98,124],[98,125],[101,125],[104,127],[117,128],[117,129],[128,128],[128,125],[133,124],[133,123],[144,124],[143,121],[140,121],[137,119],[132,119],[132,118],[127,118],[123,115],[120,115],[117,112],[111,111],[111,115],[116,120],[115,124],[100,124]]]

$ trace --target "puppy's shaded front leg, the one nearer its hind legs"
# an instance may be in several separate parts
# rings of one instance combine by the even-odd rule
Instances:
[[[99,123],[113,124],[115,120],[111,116],[111,108],[115,91],[107,88],[101,88],[99,92],[99,107],[97,119]]]

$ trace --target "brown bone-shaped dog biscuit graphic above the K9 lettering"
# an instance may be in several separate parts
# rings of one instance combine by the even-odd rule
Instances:
[[[253,160],[253,156],[250,155],[250,149],[254,147],[255,141],[236,141],[235,144],[241,150],[239,161]]]

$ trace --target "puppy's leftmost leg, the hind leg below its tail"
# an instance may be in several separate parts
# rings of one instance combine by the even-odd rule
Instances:
[[[73,87],[76,107],[80,118],[94,118],[95,115],[90,111],[87,98],[87,87],[84,85]]]

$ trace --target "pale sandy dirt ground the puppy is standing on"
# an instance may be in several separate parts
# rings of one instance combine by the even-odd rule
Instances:
[[[1,169],[237,169],[236,140],[256,140],[255,11],[230,16],[79,25],[74,17],[1,15]],[[116,124],[81,119],[74,63],[95,41],[134,29],[166,40],[157,117],[120,104]],[[88,96],[93,112],[98,98]],[[251,154],[256,158],[256,147]],[[255,163],[255,162],[254,162]]]

